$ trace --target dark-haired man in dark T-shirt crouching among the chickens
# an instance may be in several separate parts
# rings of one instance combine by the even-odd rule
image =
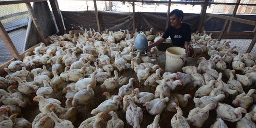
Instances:
[[[168,47],[179,46],[185,48],[186,56],[192,55],[192,49],[189,45],[191,40],[191,30],[188,23],[183,23],[182,19],[184,17],[183,11],[179,9],[174,9],[170,13],[171,26],[165,30],[165,34],[156,41],[154,44],[146,48],[147,51],[154,46],[160,51],[166,51]],[[173,43],[163,43],[167,37],[171,37]]]

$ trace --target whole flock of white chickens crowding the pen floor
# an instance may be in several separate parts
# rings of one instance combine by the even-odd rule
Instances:
[[[153,35],[152,29],[144,33],[148,44],[161,38],[160,33]],[[240,52],[235,55],[230,42],[220,43],[211,39],[211,34],[193,33],[193,56],[207,53],[210,59],[200,57],[198,67],[185,66],[183,73],[161,75],[164,70],[152,64],[156,59],[133,55],[137,34],[136,31],[131,35],[128,30],[99,33],[90,29],[83,34],[70,31],[63,36],[48,37],[49,46],[41,44],[35,48],[34,55],[26,53],[23,61],[12,62],[5,68],[8,73],[5,78],[0,77],[0,128],[74,128],[78,106],[95,115],[84,120],[79,128],[124,128],[124,121],[132,128],[140,128],[145,112],[156,115],[147,128],[160,128],[158,122],[164,110],[176,113],[170,117],[173,128],[201,128],[210,110],[217,113],[211,128],[228,128],[223,120],[236,122],[237,128],[256,128],[253,122],[256,107],[252,105],[256,102],[256,90],[249,90],[256,82],[256,55]],[[155,47],[152,53],[158,55]],[[131,69],[137,78],[119,77]],[[228,81],[223,82],[222,76]],[[155,93],[140,92],[133,84],[137,80],[139,88],[151,88]],[[95,93],[96,86],[105,91],[102,95],[107,100],[91,110],[90,102],[94,96],[101,95]],[[176,87],[196,88],[196,92],[174,93]],[[54,97],[59,91],[64,93],[65,107]],[[184,118],[181,108],[187,106],[192,96],[196,108]],[[225,98],[233,100],[232,106],[237,108],[222,103]],[[32,99],[39,102],[41,113],[32,123],[17,118],[21,116],[20,107],[31,105]],[[125,113],[126,120],[119,119],[116,113],[119,109]],[[247,114],[242,117],[241,113]],[[109,115],[112,119],[106,120]]]

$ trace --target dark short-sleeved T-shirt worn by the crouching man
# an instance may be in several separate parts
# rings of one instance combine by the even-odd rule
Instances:
[[[169,36],[174,46],[184,46],[185,41],[191,40],[190,25],[188,23],[182,23],[182,26],[178,29],[172,26],[168,27],[162,37],[166,39]]]

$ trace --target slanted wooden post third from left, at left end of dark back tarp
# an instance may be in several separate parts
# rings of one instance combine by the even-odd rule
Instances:
[[[51,7],[53,9],[53,14],[54,14],[59,32],[60,32],[60,34],[64,34],[65,29],[64,29],[64,25],[63,25],[63,22],[62,22],[62,19],[61,19],[61,14],[60,14],[58,1],[57,0],[50,0],[50,4],[51,4]]]

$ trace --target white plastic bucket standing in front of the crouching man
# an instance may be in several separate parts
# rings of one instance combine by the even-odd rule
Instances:
[[[176,73],[182,70],[185,64],[186,53],[181,47],[169,47],[166,50],[165,72]]]

